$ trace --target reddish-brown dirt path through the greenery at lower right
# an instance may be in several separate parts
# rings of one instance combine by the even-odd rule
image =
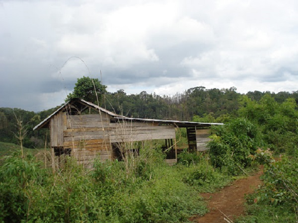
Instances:
[[[197,223],[227,223],[224,218],[230,221],[234,219],[234,216],[243,215],[244,196],[252,193],[261,184],[262,172],[261,170],[255,175],[236,180],[218,193],[201,194],[207,200],[210,212],[190,220]]]

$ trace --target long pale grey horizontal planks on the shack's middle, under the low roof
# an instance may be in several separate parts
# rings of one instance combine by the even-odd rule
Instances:
[[[174,139],[173,125],[157,125],[154,122],[110,123],[110,142],[132,142],[152,139]]]

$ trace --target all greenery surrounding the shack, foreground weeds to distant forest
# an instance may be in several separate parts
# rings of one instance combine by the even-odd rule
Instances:
[[[0,167],[0,221],[185,222],[207,212],[200,192],[216,191],[258,164],[264,165],[264,184],[247,197],[248,215],[237,222],[297,221],[298,91],[235,90],[197,87],[173,97],[106,93],[101,106],[128,116],[225,125],[213,128],[207,154],[184,151],[173,167],[163,162],[157,142],[147,142],[128,162],[96,161],[92,170],[69,158],[54,174],[42,160],[14,153]],[[44,147],[47,130],[31,129],[53,111],[1,108],[0,141],[17,143],[16,115],[28,122],[24,145]]]

